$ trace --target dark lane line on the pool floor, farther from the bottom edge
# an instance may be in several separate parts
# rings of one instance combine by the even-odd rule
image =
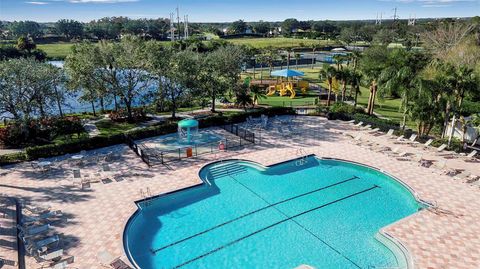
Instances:
[[[334,184],[331,184],[331,185],[328,185],[328,186],[324,186],[324,187],[321,187],[321,188],[318,188],[318,189],[315,189],[315,190],[312,190],[312,191],[309,191],[309,192],[305,192],[305,193],[302,193],[302,194],[299,194],[299,195],[290,197],[290,198],[288,198],[288,199],[285,199],[285,200],[282,200],[282,201],[278,201],[278,202],[273,203],[273,204],[268,203],[268,204],[269,204],[268,206],[261,207],[261,208],[259,208],[259,209],[254,210],[254,211],[250,211],[250,212],[248,212],[248,213],[245,213],[244,215],[241,215],[241,216],[238,216],[238,217],[236,217],[236,218],[234,218],[234,219],[231,219],[231,220],[229,220],[229,221],[220,223],[220,224],[218,224],[218,225],[216,225],[216,226],[213,226],[213,227],[211,227],[211,228],[208,228],[208,229],[206,229],[206,230],[203,230],[203,231],[198,232],[198,233],[196,233],[196,234],[193,234],[193,235],[191,235],[191,236],[182,238],[182,239],[180,239],[180,240],[178,240],[178,241],[175,241],[175,242],[170,243],[170,244],[168,244],[168,245],[165,245],[165,246],[163,246],[163,247],[160,247],[160,248],[157,248],[157,249],[150,249],[150,251],[152,252],[153,255],[155,255],[157,252],[162,251],[162,250],[164,250],[164,249],[166,249],[166,248],[169,248],[169,247],[172,247],[172,246],[174,246],[174,245],[180,244],[180,243],[182,243],[182,242],[185,242],[185,241],[187,241],[187,240],[190,240],[190,239],[192,239],[192,238],[194,238],[194,237],[197,237],[197,236],[199,236],[199,235],[205,234],[205,233],[207,233],[207,232],[211,232],[211,231],[213,231],[213,230],[215,230],[215,229],[217,229],[217,228],[220,228],[220,227],[222,227],[222,226],[225,226],[225,225],[230,224],[230,223],[232,223],[232,222],[235,222],[235,221],[237,221],[237,220],[243,219],[243,218],[245,218],[245,217],[248,217],[248,216],[250,216],[250,215],[253,215],[253,214],[255,214],[255,213],[258,213],[258,212],[260,212],[260,211],[263,211],[263,210],[265,210],[265,209],[271,208],[271,207],[276,206],[276,205],[279,205],[279,204],[283,204],[283,203],[289,202],[289,201],[294,200],[294,199],[298,199],[298,198],[303,197],[303,196],[306,196],[306,195],[310,195],[310,194],[312,194],[312,193],[315,193],[315,192],[318,192],[318,191],[321,191],[321,190],[325,190],[325,189],[328,189],[328,188],[331,188],[331,187],[334,187],[334,186],[337,186],[337,185],[340,185],[340,184],[343,184],[343,183],[352,181],[352,180],[354,180],[354,179],[359,179],[359,177],[353,176],[353,177],[351,177],[351,178],[349,178],[349,179],[345,179],[345,180],[339,181],[339,182],[337,182],[337,183],[334,183]]]

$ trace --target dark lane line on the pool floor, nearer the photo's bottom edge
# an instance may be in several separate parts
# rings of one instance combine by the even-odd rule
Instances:
[[[346,200],[346,199],[351,198],[351,197],[353,197],[353,196],[357,196],[357,195],[359,195],[359,194],[362,194],[362,193],[371,191],[371,190],[376,189],[376,188],[380,188],[380,186],[378,186],[378,185],[373,185],[372,187],[370,187],[370,188],[368,188],[368,189],[364,189],[364,190],[361,190],[361,191],[352,193],[352,194],[350,194],[350,195],[347,195],[347,196],[345,196],[345,197],[339,198],[339,199],[337,199],[337,200],[328,202],[328,203],[326,203],[326,204],[323,204],[323,205],[320,205],[320,206],[311,208],[311,209],[309,209],[309,210],[303,211],[303,212],[298,213],[298,214],[296,214],[296,215],[293,215],[293,216],[291,216],[291,217],[282,219],[282,220],[277,221],[277,222],[275,222],[275,223],[273,223],[273,224],[270,224],[270,225],[268,225],[268,226],[266,226],[266,227],[263,227],[262,229],[256,230],[255,232],[249,233],[249,234],[244,235],[244,236],[242,236],[242,237],[240,237],[240,238],[238,238],[238,239],[235,239],[235,240],[233,240],[233,241],[231,241],[231,242],[229,242],[229,243],[227,243],[227,244],[225,244],[225,245],[223,245],[223,246],[220,246],[220,247],[218,247],[218,248],[215,248],[215,249],[213,249],[213,250],[210,250],[209,252],[206,252],[206,253],[204,253],[204,254],[202,254],[202,255],[200,255],[200,256],[197,256],[197,257],[195,257],[195,258],[193,258],[193,259],[190,259],[190,260],[188,260],[188,261],[186,261],[186,262],[183,262],[183,263],[181,263],[181,264],[179,264],[179,265],[177,265],[177,266],[175,266],[175,267],[173,267],[173,268],[183,267],[183,266],[188,265],[188,264],[190,264],[190,263],[192,263],[192,262],[194,262],[194,261],[197,261],[197,260],[199,260],[199,259],[205,258],[206,256],[209,256],[209,255],[211,255],[211,254],[213,254],[213,253],[215,253],[215,252],[217,252],[217,251],[219,251],[219,250],[222,250],[222,249],[227,248],[227,247],[229,247],[229,246],[232,246],[232,245],[234,245],[234,244],[236,244],[236,243],[238,243],[238,242],[240,242],[240,241],[243,241],[243,240],[245,240],[245,239],[247,239],[247,238],[249,238],[249,237],[251,237],[251,236],[254,236],[254,235],[258,234],[258,233],[261,233],[261,232],[263,232],[263,231],[266,231],[266,230],[268,230],[268,229],[270,229],[270,228],[273,228],[273,227],[275,227],[275,226],[277,226],[277,225],[279,225],[279,224],[285,223],[285,222],[287,222],[287,221],[289,221],[289,220],[291,220],[291,219],[294,219],[294,218],[303,216],[303,215],[305,215],[305,214],[311,213],[311,212],[316,211],[316,210],[318,210],[318,209],[321,209],[321,208],[324,208],[324,207],[326,207],[326,206],[329,206],[329,205],[332,205],[332,204],[341,202],[341,201],[343,201],[343,200]]]

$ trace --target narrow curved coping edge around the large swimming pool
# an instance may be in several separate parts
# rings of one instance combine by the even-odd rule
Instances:
[[[254,164],[254,165],[257,165],[257,166],[260,166],[264,169],[268,169],[270,167],[273,167],[273,166],[276,166],[276,165],[280,165],[280,164],[283,164],[283,163],[287,163],[287,162],[291,162],[291,161],[295,161],[295,160],[300,160],[300,159],[304,159],[304,158],[308,158],[308,157],[315,157],[319,160],[334,160],[334,161],[340,161],[340,162],[346,162],[346,163],[352,163],[352,164],[355,164],[355,165],[358,165],[358,166],[362,166],[362,167],[366,167],[366,168],[369,168],[369,169],[372,169],[372,170],[375,170],[377,172],[380,172],[390,178],[392,178],[393,180],[397,181],[400,185],[402,185],[403,187],[405,187],[411,194],[412,196],[415,198],[415,201],[417,201],[419,204],[422,204],[425,206],[425,208],[428,208],[428,207],[431,207],[433,206],[433,204],[423,200],[420,198],[419,194],[412,188],[410,187],[407,183],[405,183],[403,180],[399,179],[398,177],[388,173],[387,171],[383,170],[383,169],[380,169],[380,168],[377,168],[377,167],[374,167],[374,166],[371,166],[371,165],[367,165],[367,164],[363,164],[363,163],[360,163],[360,162],[356,162],[356,161],[351,161],[351,160],[347,160],[347,159],[341,159],[341,158],[331,158],[331,157],[320,157],[320,156],[317,156],[316,154],[307,154],[307,155],[303,155],[303,156],[299,156],[297,158],[292,158],[292,159],[287,159],[287,160],[284,160],[284,161],[281,161],[281,162],[277,162],[277,163],[274,163],[274,164],[270,164],[270,165],[263,165],[259,162],[256,162],[256,161],[251,161],[251,160],[247,160],[247,159],[240,159],[240,158],[227,158],[227,159],[224,159],[224,160],[215,160],[215,161],[211,161],[211,162],[207,162],[205,163],[204,165],[202,165],[202,167],[198,170],[198,173],[197,173],[197,176],[198,178],[201,180],[200,183],[198,184],[194,184],[194,185],[191,185],[191,186],[188,186],[188,187],[185,187],[185,188],[180,188],[178,190],[173,190],[173,191],[169,191],[169,192],[165,192],[165,193],[161,193],[161,194],[157,194],[157,195],[154,195],[154,196],[151,196],[151,197],[147,197],[147,198],[144,198],[144,199],[140,199],[140,200],[136,200],[134,201],[135,205],[137,206],[137,209],[135,210],[135,212],[128,218],[127,222],[125,223],[125,226],[124,226],[124,229],[123,229],[123,236],[122,236],[122,240],[123,240],[123,250],[126,254],[126,257],[127,259],[129,260],[129,262],[135,267],[135,268],[141,268],[138,266],[138,264],[135,262],[135,260],[133,260],[132,258],[132,255],[130,254],[129,250],[127,251],[128,248],[126,248],[125,246],[127,246],[127,230],[128,230],[128,227],[130,226],[130,222],[133,221],[135,219],[135,217],[137,217],[137,215],[139,214],[139,212],[142,210],[142,207],[140,206],[141,203],[144,203],[144,202],[147,202],[147,201],[151,201],[151,200],[154,200],[154,199],[157,199],[157,198],[160,198],[160,197],[163,197],[163,196],[167,196],[167,195],[171,195],[171,194],[174,194],[174,193],[177,193],[177,192],[180,192],[180,191],[185,191],[185,190],[189,190],[189,189],[193,189],[193,188],[198,188],[199,186],[203,186],[203,185],[209,185],[206,181],[204,181],[201,176],[200,176],[200,173],[203,169],[205,169],[207,166],[210,166],[210,165],[213,165],[213,164],[217,164],[217,163],[223,163],[223,162],[230,162],[230,161],[242,161],[242,162],[248,162],[248,163],[251,163],[251,164]],[[404,218],[401,218],[395,222],[392,222],[382,228],[380,228],[378,230],[378,233],[377,235],[380,236],[381,240],[379,238],[377,238],[376,236],[374,236],[374,238],[381,244],[383,244],[385,247],[387,247],[395,256],[397,255],[402,255],[403,258],[405,259],[405,262],[406,262],[406,269],[413,269],[415,268],[415,265],[414,265],[414,261],[413,261],[413,256],[410,254],[410,251],[409,249],[400,241],[398,240],[397,238],[395,238],[393,235],[389,234],[388,232],[386,232],[386,230],[393,226],[393,225],[396,225],[397,223],[401,222],[401,221],[404,221],[406,219],[409,219],[417,214],[419,214],[423,209],[411,214],[411,215],[408,215]],[[386,242],[384,242],[383,240],[385,240]],[[398,251],[390,248],[389,246],[387,246],[388,244],[394,244],[398,250],[400,250],[401,253],[398,253]],[[396,259],[398,260],[398,257],[396,257]]]

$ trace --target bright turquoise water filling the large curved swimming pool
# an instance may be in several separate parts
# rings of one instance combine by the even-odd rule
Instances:
[[[124,235],[139,268],[401,267],[378,231],[421,208],[385,174],[315,157],[269,168],[227,161],[200,177],[139,203]]]

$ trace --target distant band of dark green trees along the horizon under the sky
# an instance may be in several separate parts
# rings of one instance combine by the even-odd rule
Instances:
[[[435,30],[441,25],[451,23],[480,23],[480,17],[469,19],[419,19],[416,25],[408,25],[407,20],[385,20],[381,25],[375,21],[302,21],[289,18],[282,22],[245,22],[237,20],[231,23],[190,23],[190,35],[212,33],[218,36],[254,33],[261,36],[286,36],[315,39],[339,39],[352,42],[396,40],[416,42],[418,34]],[[176,33],[184,32],[184,25],[174,23]],[[106,17],[88,23],[62,19],[55,23],[37,23],[34,21],[14,21],[0,23],[1,36],[4,39],[16,39],[28,36],[33,39],[63,38],[66,40],[115,40],[130,34],[148,39],[162,40],[170,35],[170,20],[129,19],[126,17]]]

